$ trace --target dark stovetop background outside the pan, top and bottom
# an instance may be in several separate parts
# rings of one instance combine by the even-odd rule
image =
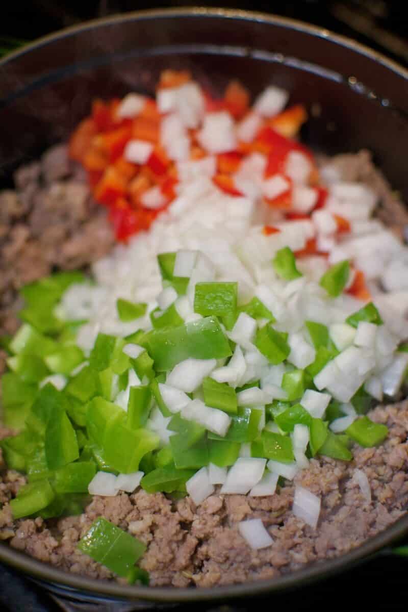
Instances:
[[[368,45],[400,64],[408,66],[408,19],[406,0],[172,0],[149,2],[135,0],[3,0],[0,7],[0,53],[11,39],[34,40],[57,29],[113,13],[152,7],[223,6],[261,10],[324,26]],[[408,559],[380,556],[300,591],[240,600],[233,605],[220,602],[194,605],[195,612],[247,612],[254,606],[292,612],[309,610],[396,610],[406,604]],[[176,612],[190,606],[171,608]],[[57,612],[59,606],[46,592],[17,572],[0,565],[0,612]],[[78,608],[80,610],[80,608]],[[114,610],[114,608],[113,608]],[[95,608],[97,612],[97,608]]]

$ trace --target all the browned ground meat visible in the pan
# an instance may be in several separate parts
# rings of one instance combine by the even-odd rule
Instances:
[[[380,218],[399,228],[408,223],[398,195],[374,168],[368,152],[338,155],[332,163],[345,180],[365,182],[379,193]],[[0,327],[9,332],[18,325],[19,286],[53,266],[86,266],[112,244],[105,214],[92,204],[65,147],[55,147],[41,163],[21,168],[15,183],[17,191],[0,194]],[[0,372],[5,357],[0,351]],[[387,424],[390,435],[379,448],[356,446],[351,463],[311,460],[294,483],[286,481],[273,496],[214,494],[199,507],[190,498],[174,502],[138,490],[114,498],[95,496],[78,517],[13,522],[8,502],[26,480],[7,469],[0,451],[0,540],[69,572],[111,579],[108,569],[76,550],[92,521],[103,516],[146,542],[141,566],[149,571],[152,585],[209,587],[292,572],[346,553],[406,512],[408,401],[379,406],[370,416]],[[0,439],[12,433],[0,428]],[[355,469],[368,477],[370,503],[354,480]],[[321,496],[317,529],[292,514],[294,484]],[[237,530],[237,523],[248,518],[262,519],[273,538],[271,547],[248,547]]]

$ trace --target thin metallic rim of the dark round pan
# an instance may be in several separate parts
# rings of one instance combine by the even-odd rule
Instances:
[[[37,42],[31,43],[23,47],[21,50],[15,51],[6,58],[0,61],[0,67],[6,62],[17,59],[21,54],[29,53],[37,47],[53,42],[53,40],[67,37],[74,32],[87,31],[97,28],[103,24],[121,23],[122,21],[154,18],[154,17],[223,17],[239,18],[240,20],[258,21],[260,23],[270,23],[286,28],[291,28],[297,31],[306,32],[316,37],[332,40],[338,45],[355,50],[357,53],[363,54],[366,57],[373,59],[377,63],[383,65],[386,69],[398,73],[402,78],[408,80],[408,71],[396,62],[382,56],[382,54],[373,51],[360,43],[354,42],[341,35],[332,34],[327,29],[316,28],[299,21],[273,17],[257,12],[245,12],[242,10],[225,10],[225,9],[169,9],[169,10],[148,10],[134,13],[126,13],[125,15],[116,15],[102,20],[89,21],[80,26],[64,29],[56,34],[51,34]],[[341,555],[338,558],[328,561],[317,562],[305,567],[297,572],[288,573],[280,578],[273,580],[253,581],[245,584],[236,584],[229,586],[220,586],[217,588],[146,588],[143,586],[123,586],[115,582],[92,580],[78,575],[63,572],[51,565],[44,564],[36,559],[32,559],[24,553],[13,550],[7,545],[0,545],[0,561],[28,574],[30,577],[46,583],[65,586],[75,591],[89,592],[89,594],[108,595],[110,597],[120,598],[122,600],[144,600],[145,602],[168,602],[168,603],[185,603],[193,601],[209,601],[209,600],[226,600],[243,596],[254,596],[272,592],[280,592],[288,589],[299,588],[306,584],[329,577],[342,569],[349,569],[358,562],[373,556],[379,551],[387,553],[389,547],[396,543],[401,537],[408,532],[408,516],[402,517],[390,528],[378,534],[376,537],[367,540],[363,545],[347,554]],[[75,591],[73,595],[75,596]]]

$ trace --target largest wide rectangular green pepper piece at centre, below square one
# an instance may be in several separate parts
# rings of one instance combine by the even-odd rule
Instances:
[[[157,371],[172,370],[180,361],[231,356],[228,338],[214,316],[169,329],[154,329],[140,338]]]

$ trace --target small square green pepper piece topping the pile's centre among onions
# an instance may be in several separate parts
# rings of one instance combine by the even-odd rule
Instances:
[[[238,283],[197,283],[194,312],[202,316],[226,316],[237,310]]]

